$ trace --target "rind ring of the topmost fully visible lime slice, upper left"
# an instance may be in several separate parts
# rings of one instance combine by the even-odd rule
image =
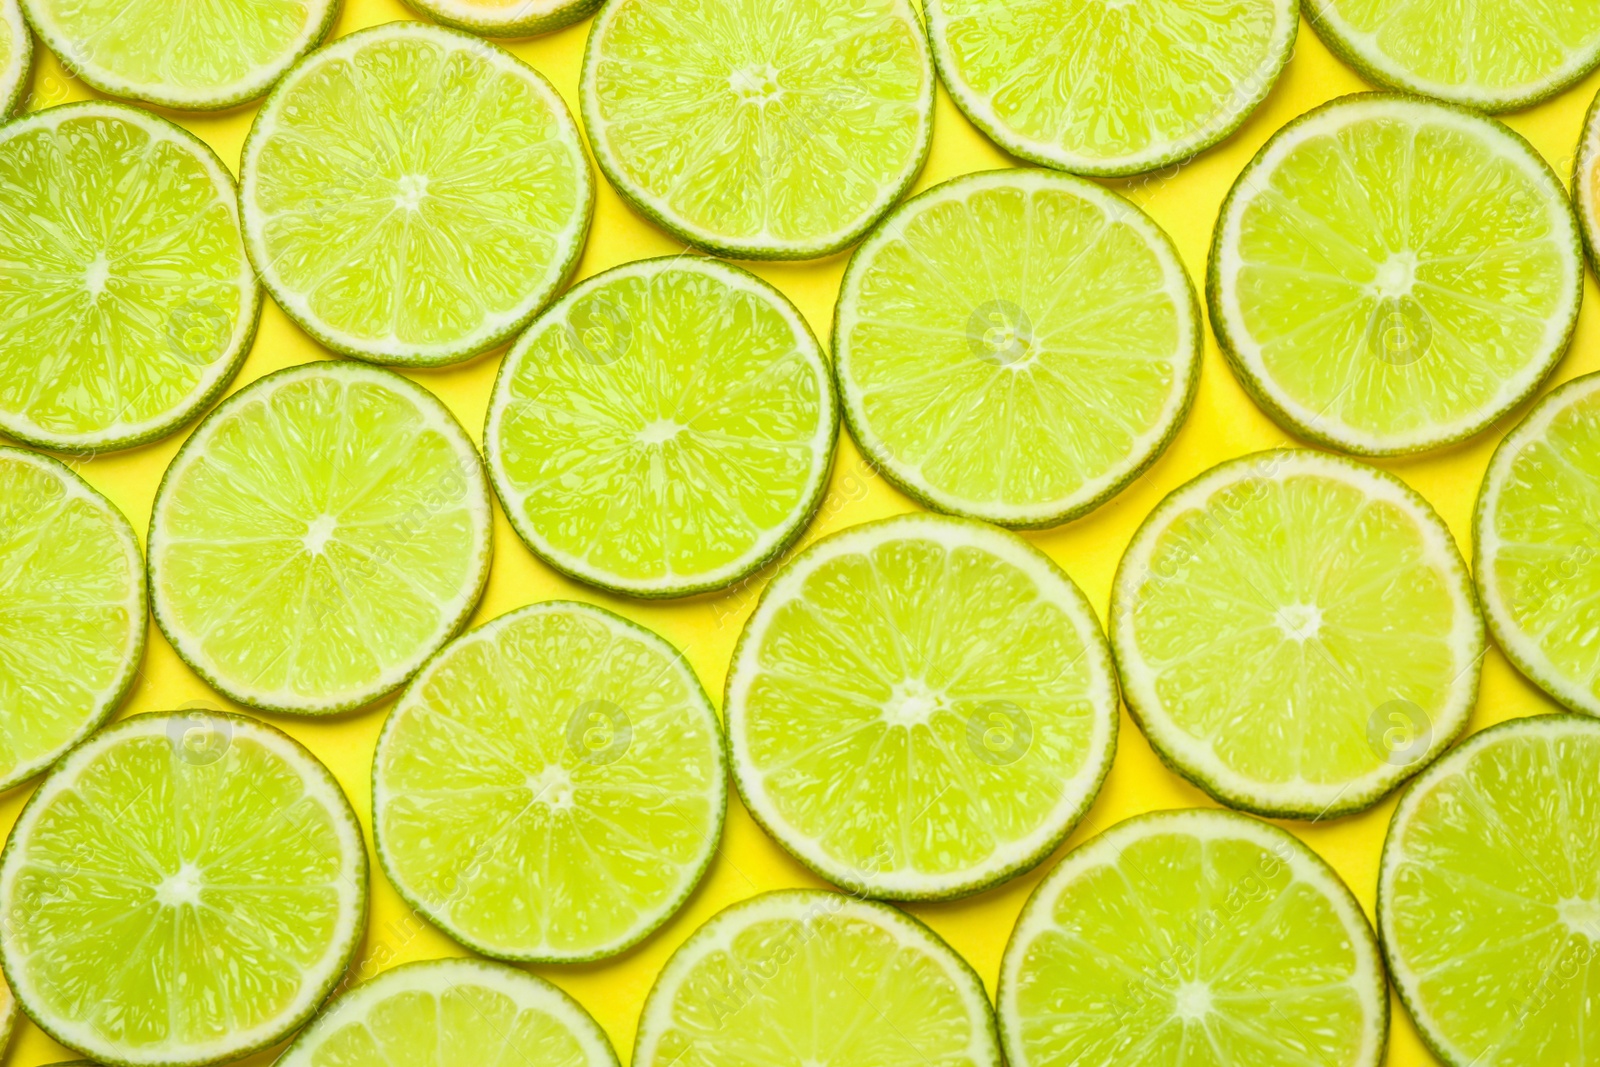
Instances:
[[[262,219],[259,218],[259,210],[253,206],[256,186],[259,184],[259,166],[256,160],[259,158],[264,142],[270,134],[270,126],[277,112],[286,106],[286,96],[296,88],[296,82],[307,77],[307,72],[314,70],[317,66],[338,62],[341,58],[354,53],[371,40],[382,37],[390,40],[405,40],[411,35],[422,38],[430,37],[434,43],[438,43],[446,50],[470,51],[474,56],[498,66],[502,72],[509,72],[531,86],[531,90],[541,96],[549,107],[554,125],[560,130],[560,136],[576,163],[574,174],[579,178],[581,184],[579,200],[582,202],[582,210],[571,219],[571,226],[568,227],[570,232],[552,237],[552,240],[563,245],[563,250],[560,262],[552,264],[546,285],[533,293],[528,293],[514,312],[502,314],[499,317],[501,322],[490,328],[480,328],[467,338],[448,344],[371,342],[322,322],[306,306],[304,296],[288,290],[278,274],[272,269],[272,258],[269,256],[261,235]],[[528,323],[531,323],[539,310],[562,291],[562,288],[578,272],[578,262],[582,259],[584,246],[589,238],[589,226],[594,221],[595,181],[592,168],[589,166],[589,157],[582,150],[582,134],[578,130],[578,123],[573,120],[566,102],[562,99],[560,93],[555,91],[555,86],[550,85],[549,78],[504,48],[474,37],[472,34],[445,26],[434,26],[430,22],[400,21],[371,26],[341,37],[326,48],[320,48],[318,51],[306,56],[283,75],[277,88],[272,90],[272,94],[261,104],[261,110],[256,112],[256,118],[250,126],[250,134],[245,138],[245,147],[240,152],[238,202],[240,218],[243,219],[245,251],[250,254],[250,261],[254,264],[262,285],[266,285],[278,307],[283,309],[283,314],[288,315],[294,325],[304,330],[314,341],[333,352],[338,352],[339,355],[384,366],[429,368],[461,363],[501,347],[517,336]],[[334,237],[330,235],[330,240],[334,240]]]

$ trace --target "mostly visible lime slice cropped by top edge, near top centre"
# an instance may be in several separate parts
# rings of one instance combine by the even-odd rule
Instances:
[[[811,259],[922,171],[933,62],[910,0],[613,0],[581,83],[595,160],[691,245]]]

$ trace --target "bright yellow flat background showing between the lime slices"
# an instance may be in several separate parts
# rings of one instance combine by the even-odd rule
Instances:
[[[334,35],[400,18],[416,16],[398,0],[346,0]],[[582,22],[549,37],[509,45],[512,51],[555,83],[574,115],[578,114],[578,72],[587,30],[587,22]],[[1200,286],[1205,278],[1211,226],[1234,176],[1261,144],[1286,122],[1326,99],[1365,88],[1370,86],[1354,70],[1334,59],[1310,27],[1302,24],[1294,58],[1283,78],[1234,138],[1181,168],[1168,168],[1154,176],[1109,184],[1142,205],[1155,216],[1157,222],[1166,227],[1178,242],[1190,275]],[[1581,82],[1547,104],[1507,118],[1514,128],[1533,141],[1563,179],[1571,173],[1584,109],[1597,88],[1600,88],[1600,75]],[[86,86],[66,77],[54,59],[42,50],[35,61],[30,109],[91,96],[94,94]],[[224,115],[173,114],[171,117],[210,141],[222,160],[237,170],[240,146],[253,115],[254,107]],[[933,155],[917,189],[926,189],[968,171],[992,170],[1010,163],[1008,157],[984,139],[941,90]],[[677,253],[682,248],[678,242],[634,214],[600,178],[594,230],[579,277],[598,274],[632,259]],[[826,341],[832,323],[834,298],[838,293],[846,259],[848,256],[835,256],[813,264],[755,266],[754,269],[784,290],[810,318],[818,336]],[[1600,293],[1595,291],[1592,278],[1586,283],[1586,307],[1579,318],[1573,350],[1557,368],[1550,382],[1541,389],[1541,395],[1557,382],[1600,370],[1600,302],[1597,302]],[[267,299],[256,347],[234,382],[234,389],[282,366],[328,358],[328,355]],[[438,394],[477,438],[483,427],[483,413],[498,366],[499,354],[496,352],[462,366],[408,374]],[[1434,502],[1454,531],[1462,552],[1469,557],[1470,514],[1483,469],[1488,466],[1494,443],[1522,418],[1525,410],[1526,405],[1493,430],[1466,445],[1421,459],[1381,464]],[[157,482],[186,435],[187,430],[146,448],[86,462],[77,461],[74,466],[126,512],[142,541],[149,526]],[[1222,459],[1291,443],[1296,442],[1256,410],[1234,381],[1208,331],[1198,400],[1189,422],[1166,454],[1133,486],[1090,517],[1059,530],[1029,534],[1029,539],[1067,568],[1088,592],[1104,619],[1117,560],[1139,520],[1163,494]],[[806,541],[843,526],[915,507],[874,475],[846,434],[840,440],[838,462],[829,496],[806,533]],[[763,573],[722,595],[666,605],[608,597],[563,579],[536,561],[517,541],[498,509],[494,550],[494,569],[488,593],[483,597],[472,625],[539,600],[573,598],[605,605],[658,630],[682,648],[699,672],[707,691],[718,702],[739,627],[754,608],[768,577],[768,573]],[[390,704],[392,701],[384,701],[363,712],[323,721],[280,715],[261,717],[299,737],[328,763],[365,822],[371,801],[373,745]],[[142,673],[122,713],[174,707],[218,707],[256,715],[250,709],[235,709],[211,693],[178,659],[152,624]],[[1482,729],[1506,718],[1550,710],[1558,709],[1525,681],[1506,662],[1499,649],[1491,649],[1485,661],[1482,699],[1470,728]],[[30,792],[30,787],[24,787],[0,798],[0,821],[6,829],[16,819]],[[1141,811],[1197,805],[1211,805],[1211,801],[1166,771],[1150,752],[1144,736],[1123,713],[1117,763],[1099,800],[1066,848]],[[1336,822],[1309,827],[1283,825],[1322,853],[1344,875],[1371,915],[1378,853],[1392,809],[1394,801],[1389,800],[1365,814]],[[1011,923],[1040,875],[1054,865],[1056,859],[1059,854],[1034,873],[981,896],[955,904],[917,905],[909,910],[949,939],[978,968],[992,993],[1000,953],[1011,933]],[[594,1013],[611,1035],[611,1041],[626,1064],[645,993],[667,955],[696,926],[722,907],[755,893],[816,885],[821,885],[816,877],[789,859],[752,822],[738,797],[731,797],[728,827],[717,859],[699,891],[672,921],[645,944],[616,960],[534,969],[571,992]],[[373,864],[371,891],[373,910],[366,941],[355,965],[357,977],[376,974],[408,960],[464,953],[461,947],[402,904],[376,862]],[[19,1022],[18,1035],[11,1045],[10,1064],[29,1067],[62,1059],[72,1059],[67,1049],[58,1046],[29,1022]],[[272,1054],[261,1054],[245,1062],[267,1064],[270,1061]],[[1434,1057],[1418,1040],[1405,1009],[1395,1000],[1389,1064],[1392,1067],[1419,1067],[1434,1062]]]

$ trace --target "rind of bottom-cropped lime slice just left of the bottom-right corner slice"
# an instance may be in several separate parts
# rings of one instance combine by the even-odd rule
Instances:
[[[1123,848],[1139,841],[1141,838],[1163,833],[1189,833],[1210,840],[1232,838],[1250,841],[1272,853],[1275,861],[1294,869],[1293,873],[1296,875],[1296,885],[1309,883],[1312,888],[1320,891],[1322,899],[1331,905],[1331,910],[1338,915],[1344,931],[1349,934],[1350,947],[1354,949],[1358,965],[1365,965],[1365,977],[1368,979],[1366,982],[1357,985],[1357,995],[1370,998],[1370,1016],[1368,1025],[1365,1027],[1366,1040],[1362,1043],[1360,1054],[1352,1061],[1341,1061],[1339,1067],[1379,1067],[1379,1064],[1384,1062],[1384,1054],[1389,1046],[1389,993],[1378,939],[1373,934],[1373,926],[1366,920],[1365,912],[1362,912],[1362,905],[1355,899],[1355,894],[1350,893],[1349,886],[1339,877],[1339,872],[1336,872],[1322,856],[1318,856],[1293,833],[1251,816],[1216,808],[1150,811],[1123,819],[1122,822],[1074,846],[1072,851],[1069,851],[1066,857],[1062,857],[1062,861],[1034,888],[1018,915],[1016,926],[1011,929],[1005,953],[1000,960],[1000,979],[995,992],[995,1014],[998,1017],[1000,1040],[1006,1053],[1006,1062],[1013,1067],[1042,1067],[1027,1056],[1027,1048],[1021,1033],[1021,1009],[1016,1003],[1019,974],[1027,963],[1027,950],[1030,944],[1029,934],[1032,933],[1037,936],[1042,931],[1061,928],[1062,923],[1051,915],[1051,910],[1058,905],[1059,891],[1070,883],[1074,877],[1094,865],[1115,865],[1115,862],[1122,857]],[[1110,856],[1106,856],[1106,853],[1110,853]],[[1251,873],[1256,878],[1261,878],[1259,872]],[[1238,885],[1243,883],[1235,883],[1235,888]],[[1144,909],[1154,909],[1157,904],[1158,902],[1141,901]],[[1232,899],[1219,901],[1219,904],[1224,907],[1218,910],[1224,912],[1229,910],[1230,905],[1234,909],[1238,907],[1237,904],[1232,904]],[[1168,917],[1171,912],[1162,907],[1160,915]],[[1227,921],[1227,915],[1222,918]],[[1208,929],[1216,931],[1218,928],[1198,925],[1198,929],[1200,936],[1205,937]],[[1194,965],[1202,958],[1203,944],[1197,945],[1194,953],[1187,957],[1189,965]],[[1179,955],[1173,957],[1174,963],[1179,960]],[[1277,977],[1278,976],[1274,976],[1274,979]],[[1131,976],[1131,981],[1144,982],[1147,984],[1144,992],[1154,992],[1149,987],[1157,985],[1162,981],[1162,976],[1141,973]],[[1106,990],[1106,993],[1112,995],[1112,990]],[[1091,1011],[1094,1011],[1094,1006],[1085,1005],[1085,1014]],[[1115,1016],[1112,1013],[1107,1013],[1107,1025],[1117,1025]],[[1293,1022],[1290,1025],[1293,1025]],[[1298,1033],[1298,1037],[1306,1038],[1304,1033]],[[1309,1041],[1309,1038],[1306,1040]],[[1110,1062],[1112,1061],[1107,1061],[1107,1067],[1110,1067]],[[1114,1062],[1117,1067],[1122,1067],[1123,1064],[1131,1067],[1133,1064],[1150,1061],[1117,1059]],[[1331,1067],[1334,1061],[1328,1059],[1326,1064]]]

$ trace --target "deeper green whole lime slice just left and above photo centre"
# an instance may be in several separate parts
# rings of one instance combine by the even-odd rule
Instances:
[[[550,566],[682,597],[800,536],[837,437],[827,360],[794,304],[678,256],[589,278],[541,317],[501,365],[483,451]]]

